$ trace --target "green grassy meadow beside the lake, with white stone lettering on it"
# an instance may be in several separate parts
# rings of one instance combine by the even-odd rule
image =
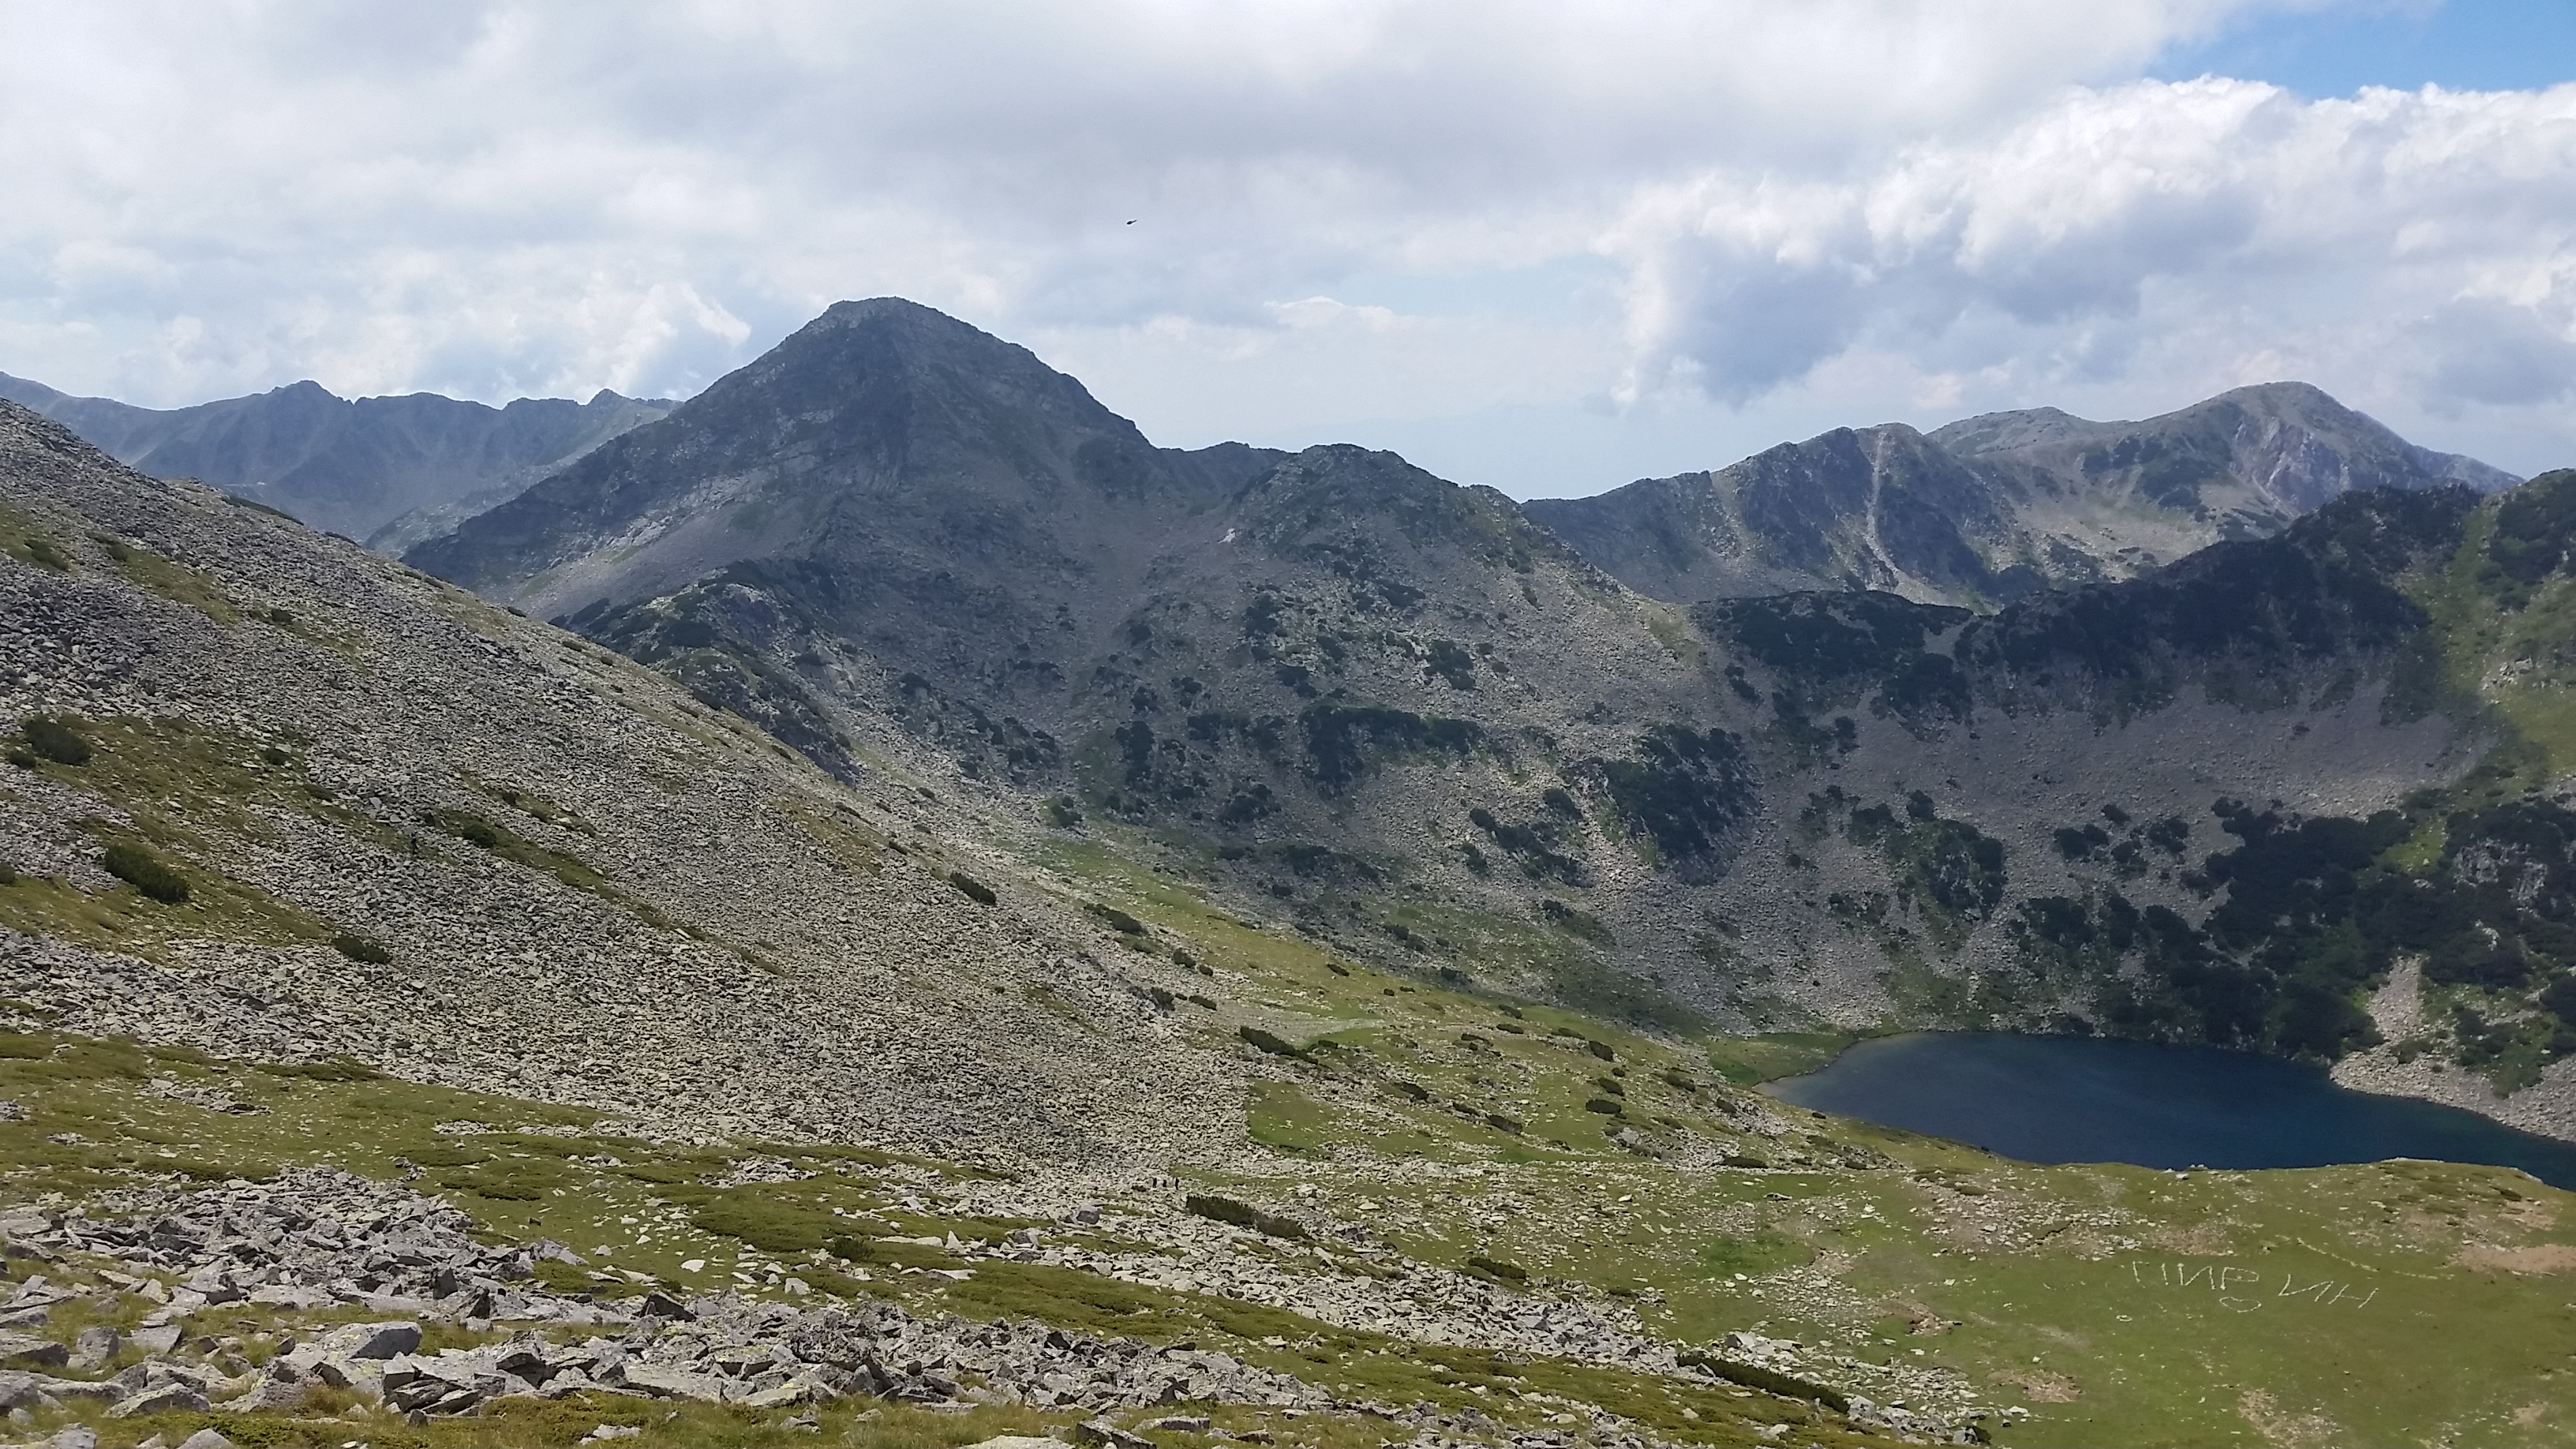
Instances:
[[[2555,1408],[2576,1372],[2576,1196],[2522,1173],[2038,1168],[1795,1109],[1785,1116],[1798,1129],[1757,1150],[1806,1171],[1677,1168],[1602,1137],[1607,1119],[1582,1101],[1600,1096],[1607,1065],[1551,1026],[1613,1047],[1631,1088],[1623,1119],[1739,1142],[1710,1083],[1803,1070],[1839,1042],[1656,1042],[1530,1006],[1512,1018],[1507,1003],[1242,931],[1164,879],[1095,859],[1105,897],[1244,972],[1283,1011],[1368,1021],[1324,1034],[1319,1065],[1260,1091],[1252,1134],[1296,1160],[1291,1176],[1376,1204],[1363,1217],[1394,1225],[1381,1230],[1422,1261],[1489,1256],[1643,1292],[1649,1323],[1677,1338],[1762,1325],[1857,1359],[1953,1366],[2032,1408],[2012,1444],[2244,1444],[2259,1426],[2295,1436],[2311,1418],[2331,1423],[2336,1444],[2434,1431],[2455,1444],[2576,1441],[2576,1415]],[[1461,1047],[1461,1034],[1484,1044]],[[1698,1091],[1667,1085],[1667,1073]],[[1432,1104],[1383,1080],[1412,1080]],[[1502,1104],[1528,1129],[1492,1132],[1440,1109],[1448,1101]],[[1893,1168],[1834,1165],[1855,1147]],[[1406,1158],[1489,1176],[1479,1191],[1406,1181],[1388,1171]],[[1278,1191],[1275,1171],[1226,1181],[1247,1196]],[[2427,1333],[2455,1348],[2429,1359]]]

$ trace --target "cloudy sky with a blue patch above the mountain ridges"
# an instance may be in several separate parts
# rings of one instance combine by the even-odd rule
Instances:
[[[848,297],[1517,498],[2313,382],[2576,464],[2576,0],[0,0],[0,371],[688,397]]]

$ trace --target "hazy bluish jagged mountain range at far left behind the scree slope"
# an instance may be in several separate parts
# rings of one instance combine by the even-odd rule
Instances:
[[[386,552],[446,534],[672,410],[605,389],[590,402],[520,397],[507,407],[435,392],[348,400],[317,382],[155,410],[70,397],[8,374],[0,397],[72,428],[126,467],[196,477]]]

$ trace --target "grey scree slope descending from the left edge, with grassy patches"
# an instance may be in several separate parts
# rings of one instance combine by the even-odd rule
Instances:
[[[15,407],[0,534],[0,706],[49,722],[0,792],[5,959],[95,1031],[994,1155],[1157,1150],[1229,1098],[1141,957],[961,892],[987,869],[909,786],[850,797],[659,676]],[[185,900],[95,905],[108,846]]]

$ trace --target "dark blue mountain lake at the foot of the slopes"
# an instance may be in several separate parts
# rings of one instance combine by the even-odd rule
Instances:
[[[2576,1191],[2576,1145],[2476,1111],[2344,1091],[2316,1067],[2089,1036],[1914,1031],[1765,1091],[2025,1163],[2321,1168],[2432,1158]]]

